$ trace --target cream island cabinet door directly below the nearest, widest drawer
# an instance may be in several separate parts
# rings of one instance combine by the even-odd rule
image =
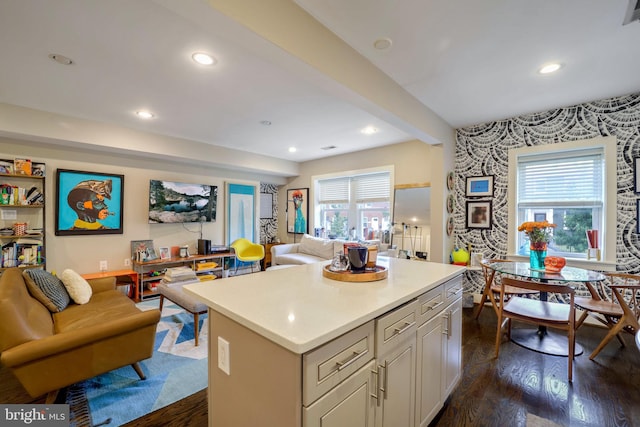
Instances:
[[[303,410],[304,427],[373,427],[377,396],[372,360]]]

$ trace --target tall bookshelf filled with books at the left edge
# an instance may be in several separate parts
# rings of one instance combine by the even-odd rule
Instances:
[[[8,268],[46,268],[45,177],[0,173],[0,274]]]

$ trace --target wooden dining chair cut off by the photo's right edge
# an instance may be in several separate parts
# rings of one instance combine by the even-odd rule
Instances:
[[[620,333],[627,331],[636,335],[640,326],[640,275],[627,273],[605,273],[609,283],[587,284],[590,297],[576,297],[576,306],[584,313],[576,323],[576,329],[582,326],[588,316],[603,323],[609,332],[591,353],[593,360],[598,353],[616,337],[625,347]]]

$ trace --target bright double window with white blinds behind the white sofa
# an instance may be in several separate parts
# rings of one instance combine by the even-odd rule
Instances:
[[[334,239],[377,239],[391,218],[391,172],[314,179],[315,227]]]

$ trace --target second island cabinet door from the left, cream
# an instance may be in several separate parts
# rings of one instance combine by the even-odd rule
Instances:
[[[415,332],[398,342],[396,348],[378,362],[379,399],[377,427],[413,427],[415,404]]]

